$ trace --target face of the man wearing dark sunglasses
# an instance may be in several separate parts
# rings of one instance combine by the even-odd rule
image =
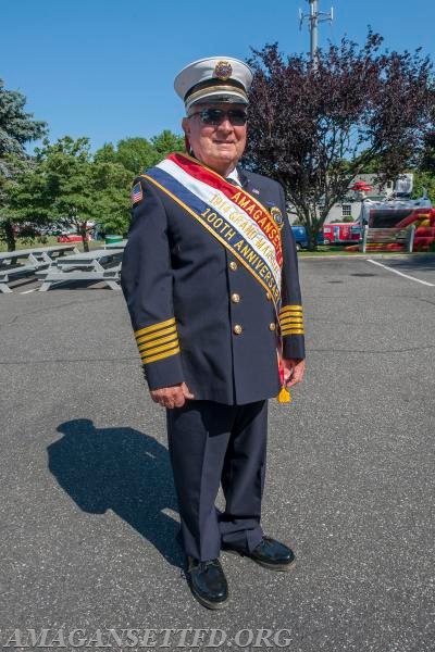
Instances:
[[[183,120],[183,129],[195,156],[225,176],[234,170],[245,151],[247,126],[232,124],[227,114],[217,125],[204,124],[199,115],[199,112],[204,109],[245,112],[246,106],[231,103],[194,104],[189,110],[189,116]]]

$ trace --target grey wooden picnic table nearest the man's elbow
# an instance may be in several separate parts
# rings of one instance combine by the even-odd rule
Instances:
[[[103,280],[112,290],[119,290],[123,249],[95,249],[59,259],[48,269],[37,273],[42,279],[40,292],[71,280]]]

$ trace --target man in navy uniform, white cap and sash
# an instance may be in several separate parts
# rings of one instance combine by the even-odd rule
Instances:
[[[177,75],[188,154],[135,180],[122,267],[151,398],[166,409],[189,586],[209,609],[228,598],[222,549],[276,570],[294,562],[260,515],[268,399],[302,379],[302,306],[284,191],[238,166],[251,80],[227,57]]]

